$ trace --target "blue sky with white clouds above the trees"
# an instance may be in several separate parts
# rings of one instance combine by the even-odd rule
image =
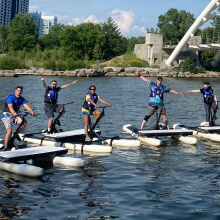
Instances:
[[[106,22],[112,17],[125,37],[145,36],[156,28],[158,17],[170,8],[185,10],[197,18],[211,0],[30,0],[29,12],[54,15],[58,23]],[[210,26],[203,25],[201,28]]]

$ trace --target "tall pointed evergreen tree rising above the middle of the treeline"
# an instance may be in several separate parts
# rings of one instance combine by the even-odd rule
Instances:
[[[104,34],[102,58],[111,59],[124,54],[127,50],[127,39],[122,37],[118,25],[109,17],[107,23],[104,22],[101,26],[102,33]]]

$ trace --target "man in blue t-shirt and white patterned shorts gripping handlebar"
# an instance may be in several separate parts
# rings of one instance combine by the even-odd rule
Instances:
[[[21,96],[23,92],[22,86],[17,86],[15,89],[15,94],[9,95],[6,98],[5,106],[2,113],[2,122],[7,130],[4,140],[4,151],[10,150],[8,148],[8,144],[10,141],[10,138],[12,136],[12,125],[15,124],[21,124],[22,122],[22,116],[18,115],[18,110],[21,105],[23,105],[31,115],[34,115],[34,111],[31,109],[31,107],[27,104],[26,100]],[[19,133],[25,129],[27,126],[27,121],[24,120],[24,124],[21,126]]]

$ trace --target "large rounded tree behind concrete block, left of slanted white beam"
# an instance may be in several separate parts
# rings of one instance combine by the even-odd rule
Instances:
[[[181,40],[195,21],[194,15],[185,10],[178,11],[171,8],[164,15],[160,15],[157,23],[164,42]]]

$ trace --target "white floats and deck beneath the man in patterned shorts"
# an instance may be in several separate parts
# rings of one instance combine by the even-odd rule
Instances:
[[[38,177],[44,174],[40,167],[28,164],[28,160],[48,159],[53,163],[83,167],[85,161],[80,158],[58,157],[66,154],[68,150],[64,147],[37,146],[19,150],[0,152],[0,169],[29,177]]]

